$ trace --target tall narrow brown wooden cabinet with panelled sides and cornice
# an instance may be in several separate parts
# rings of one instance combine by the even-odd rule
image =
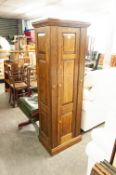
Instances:
[[[86,32],[89,23],[33,23],[39,89],[39,140],[52,155],[81,140]]]

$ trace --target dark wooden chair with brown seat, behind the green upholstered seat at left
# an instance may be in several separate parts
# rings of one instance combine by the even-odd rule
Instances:
[[[28,67],[11,67],[9,70],[10,98],[15,107],[18,97],[29,94],[30,80]]]

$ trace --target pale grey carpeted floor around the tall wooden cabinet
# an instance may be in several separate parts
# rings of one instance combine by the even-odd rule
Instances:
[[[8,95],[0,94],[0,175],[86,175],[85,148],[90,132],[82,141],[51,157],[39,142],[32,125],[18,130],[27,118],[11,108]]]

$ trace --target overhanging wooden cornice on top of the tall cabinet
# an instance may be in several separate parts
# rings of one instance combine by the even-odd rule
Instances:
[[[81,22],[81,21],[72,21],[72,20],[61,20],[61,19],[53,19],[48,18],[44,20],[40,20],[33,23],[35,28],[42,26],[61,26],[61,27],[89,27],[90,23]]]

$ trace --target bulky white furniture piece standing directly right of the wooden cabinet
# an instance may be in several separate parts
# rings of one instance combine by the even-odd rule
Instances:
[[[85,71],[81,129],[88,131],[105,122],[116,98],[116,68]],[[106,107],[108,106],[108,107]]]

